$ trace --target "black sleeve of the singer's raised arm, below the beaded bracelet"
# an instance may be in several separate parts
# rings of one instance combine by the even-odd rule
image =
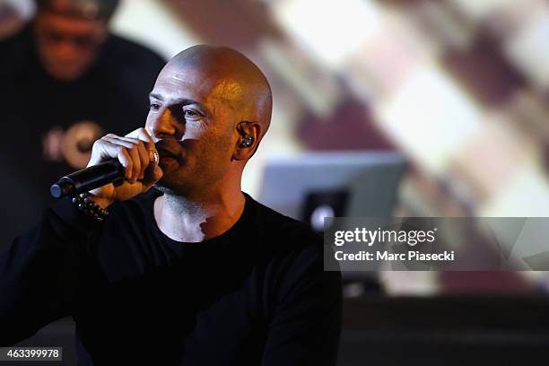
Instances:
[[[86,268],[84,247],[99,231],[65,199],[0,255],[0,346],[71,315]]]

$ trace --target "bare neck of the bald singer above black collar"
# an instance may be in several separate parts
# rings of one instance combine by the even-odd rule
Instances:
[[[228,231],[239,220],[245,202],[240,190],[200,199],[165,192],[154,202],[154,219],[171,240],[199,242]]]

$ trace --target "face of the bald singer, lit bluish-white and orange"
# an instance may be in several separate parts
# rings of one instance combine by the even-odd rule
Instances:
[[[146,122],[161,155],[158,186],[192,195],[228,177],[238,140],[232,101],[238,84],[215,71],[168,65],[153,92]]]

